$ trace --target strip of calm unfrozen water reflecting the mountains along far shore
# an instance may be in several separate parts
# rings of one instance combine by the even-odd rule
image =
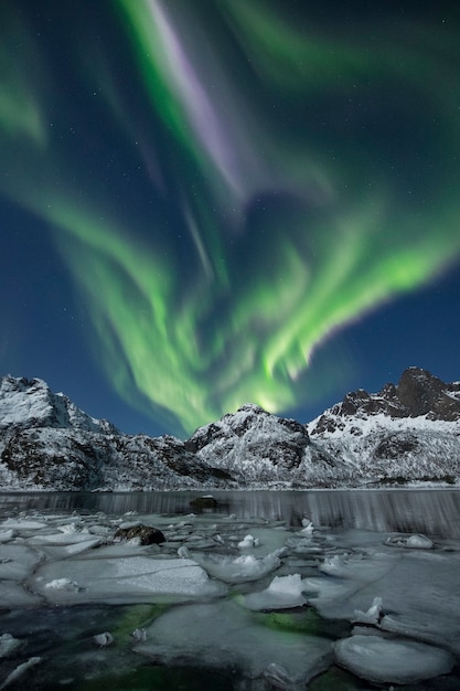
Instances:
[[[191,500],[201,492],[41,492],[0,493],[0,512],[103,511],[104,513],[190,513]],[[213,492],[215,511],[284,520],[300,525],[308,517],[315,525],[364,530],[421,532],[460,538],[458,490],[331,490]]]

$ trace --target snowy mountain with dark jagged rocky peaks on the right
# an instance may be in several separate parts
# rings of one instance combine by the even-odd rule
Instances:
[[[310,438],[366,482],[460,477],[460,382],[409,368],[378,393],[349,393],[308,425]]]

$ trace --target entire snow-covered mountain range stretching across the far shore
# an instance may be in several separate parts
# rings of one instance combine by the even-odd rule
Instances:
[[[406,370],[309,424],[257,405],[171,436],[128,436],[42,380],[0,380],[0,489],[201,489],[456,482],[460,382]]]

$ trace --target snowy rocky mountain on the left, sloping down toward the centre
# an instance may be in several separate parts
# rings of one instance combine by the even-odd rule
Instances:
[[[124,435],[42,380],[0,380],[0,489],[196,489],[229,480],[181,439]]]

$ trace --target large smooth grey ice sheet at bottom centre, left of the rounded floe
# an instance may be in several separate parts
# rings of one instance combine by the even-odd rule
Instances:
[[[329,640],[270,629],[228,600],[174,607],[153,621],[135,650],[162,665],[203,663],[237,668],[249,679],[282,678],[285,685],[276,688],[286,689],[303,689],[332,660]]]

